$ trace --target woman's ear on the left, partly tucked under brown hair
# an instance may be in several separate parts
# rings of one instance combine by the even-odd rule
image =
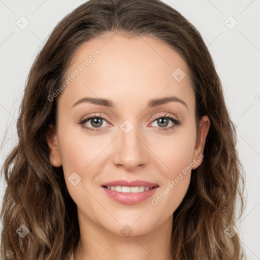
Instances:
[[[60,167],[62,164],[61,164],[61,157],[60,157],[58,140],[57,140],[57,133],[52,124],[48,125],[47,141],[50,149],[50,154],[49,154],[50,163],[54,167]]]

